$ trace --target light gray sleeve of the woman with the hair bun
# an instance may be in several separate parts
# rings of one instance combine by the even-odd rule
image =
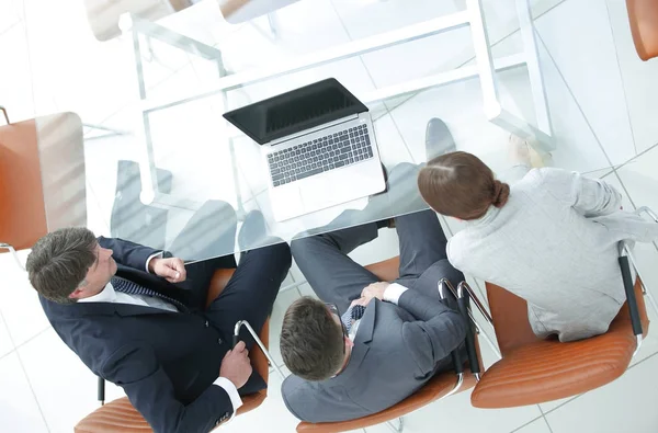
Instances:
[[[561,169],[542,169],[540,173],[554,197],[588,218],[612,214],[622,206],[622,194],[601,180]]]

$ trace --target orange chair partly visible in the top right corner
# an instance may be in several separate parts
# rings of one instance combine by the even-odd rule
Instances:
[[[658,1],[626,0],[635,50],[643,60],[658,57]]]

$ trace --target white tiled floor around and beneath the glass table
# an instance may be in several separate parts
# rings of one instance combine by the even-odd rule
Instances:
[[[602,176],[623,191],[625,208],[649,205],[658,209],[658,62],[637,58],[625,2],[533,0],[531,3],[558,145],[554,164]],[[417,0],[412,7],[406,0],[306,0],[281,11],[279,22],[284,31],[280,41],[272,43],[264,36],[266,21],[258,21],[260,29],[250,24],[220,25],[213,4],[212,0],[205,0],[200,7],[208,13],[193,16],[195,25],[184,31],[222,48],[227,67],[240,70],[464,8],[463,0]],[[514,33],[518,22],[513,16],[513,0],[484,0],[484,5],[495,57],[517,53],[520,38]],[[364,15],[368,20],[364,21]],[[164,20],[167,25],[175,26],[172,21],[171,16]],[[67,23],[65,31],[63,22]],[[216,78],[215,69],[205,60],[181,55],[162,44],[152,44],[152,49],[155,59],[145,53],[151,95],[193,91]],[[11,59],[0,70],[0,104],[10,110],[13,119],[72,110],[88,123],[133,128],[129,109],[136,99],[136,83],[132,52],[126,50],[123,38],[97,43],[87,26],[82,2],[0,0],[0,53],[3,60]],[[327,76],[338,77],[360,94],[460,67],[472,58],[467,32],[457,31],[231,92],[229,104],[239,106]],[[533,122],[524,70],[501,73],[499,79],[506,109]],[[479,98],[477,82],[470,81],[379,105],[375,110],[379,118],[376,128],[381,147],[387,150],[383,155],[385,162],[421,161],[426,122],[440,116],[451,127],[458,148],[476,152],[502,170],[507,133],[486,122]],[[219,176],[216,182],[225,181],[216,164],[200,161],[185,169],[175,163],[170,150],[181,141],[185,146],[201,146],[207,140],[206,146],[212,146],[211,141],[222,133],[208,128],[211,122],[205,121],[218,115],[216,110],[216,103],[201,103],[154,119],[160,125],[155,132],[159,143],[158,163],[174,172],[173,187],[181,194],[203,195],[201,185],[205,178],[195,172],[212,171],[212,175]],[[206,116],[204,122],[189,123],[194,117],[204,118],[202,115]],[[181,124],[194,134],[177,136]],[[109,231],[116,182],[115,166],[106,161],[136,159],[139,151],[140,144],[131,135],[86,144],[89,225],[99,233]],[[243,178],[249,174],[241,173]],[[460,228],[454,220],[443,220],[443,225],[449,232]],[[352,255],[360,263],[371,263],[396,253],[395,231],[382,230],[377,240]],[[21,260],[25,255],[22,252]],[[643,278],[658,296],[658,248],[638,246],[636,257]],[[26,276],[11,257],[0,254],[0,419],[3,421],[0,430],[70,432],[77,420],[97,406],[95,379],[48,326]],[[286,284],[300,277],[298,270],[293,269]],[[271,319],[271,347],[277,363],[281,363],[277,331],[282,315],[302,295],[313,295],[308,285],[283,292],[276,299]],[[649,317],[658,320],[658,314],[650,308]],[[495,361],[491,350],[483,344],[483,353],[485,364],[490,365]],[[605,387],[575,398],[507,410],[474,409],[467,391],[408,415],[406,431],[656,432],[658,375],[653,368],[658,367],[657,353],[658,333],[651,329],[631,369]],[[266,420],[266,431],[294,431],[296,420],[285,410],[279,385],[280,379],[272,375],[270,397],[262,408],[239,417],[223,430],[265,431],[263,420]],[[120,388],[109,385],[109,399],[121,395]],[[378,425],[366,431],[384,433],[387,429]]]

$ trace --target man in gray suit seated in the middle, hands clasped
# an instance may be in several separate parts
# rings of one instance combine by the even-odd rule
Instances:
[[[395,218],[400,250],[395,282],[379,282],[348,257],[375,239],[385,223],[291,244],[320,298],[293,303],[281,331],[281,354],[293,373],[283,383],[283,400],[300,420],[345,421],[387,409],[452,369],[451,352],[463,350],[466,323],[441,303],[438,282],[447,278],[456,286],[464,275],[446,259],[446,238],[432,210]]]

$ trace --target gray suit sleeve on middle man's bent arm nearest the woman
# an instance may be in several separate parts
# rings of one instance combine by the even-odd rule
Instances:
[[[466,338],[462,316],[418,290],[406,290],[398,306],[418,320],[402,323],[402,339],[422,374],[434,369],[440,360],[450,355]]]

